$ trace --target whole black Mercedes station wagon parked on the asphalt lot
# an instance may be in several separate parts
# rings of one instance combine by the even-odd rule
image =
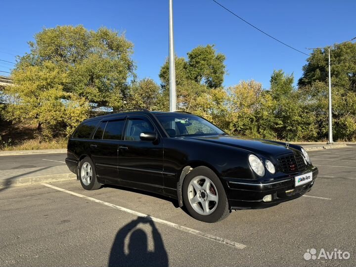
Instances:
[[[66,164],[87,190],[114,184],[169,196],[214,223],[309,192],[318,170],[299,145],[231,136],[188,112],[123,110],[85,120]]]

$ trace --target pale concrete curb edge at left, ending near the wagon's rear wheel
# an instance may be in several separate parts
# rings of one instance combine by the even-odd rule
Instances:
[[[73,180],[76,178],[77,178],[77,176],[75,174],[67,173],[67,174],[57,174],[57,175],[23,177],[23,178],[17,178],[14,180],[2,179],[2,181],[0,181],[0,189],[5,189],[8,187],[12,187],[12,186],[30,185],[30,184],[36,184],[36,183],[42,183],[42,182]]]

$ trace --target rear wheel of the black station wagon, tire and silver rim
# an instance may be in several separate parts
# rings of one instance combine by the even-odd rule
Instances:
[[[97,181],[94,164],[89,157],[80,161],[78,175],[83,188],[86,190],[96,190],[102,185]]]

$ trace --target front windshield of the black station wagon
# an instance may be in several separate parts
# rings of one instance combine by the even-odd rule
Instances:
[[[223,135],[218,127],[191,114],[156,114],[169,136]]]

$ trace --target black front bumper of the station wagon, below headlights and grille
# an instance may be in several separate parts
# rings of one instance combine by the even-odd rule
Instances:
[[[297,187],[294,185],[295,176],[310,172],[311,182]],[[316,167],[310,166],[302,173],[268,181],[225,178],[230,209],[263,209],[298,198],[312,189],[318,173]],[[272,195],[272,200],[263,201],[266,195]]]

